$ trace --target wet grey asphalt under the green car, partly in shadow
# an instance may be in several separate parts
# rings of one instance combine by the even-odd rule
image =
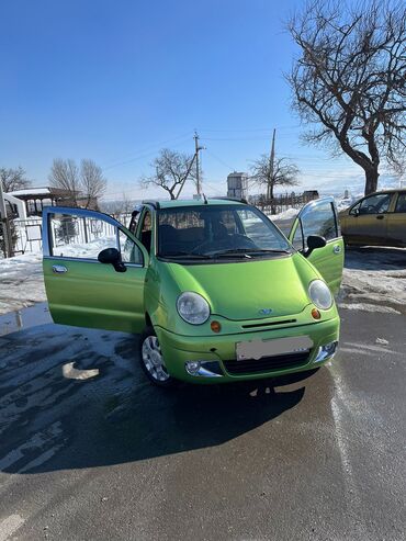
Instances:
[[[0,541],[405,539],[405,324],[342,311],[312,376],[176,393],[127,335],[3,336]]]

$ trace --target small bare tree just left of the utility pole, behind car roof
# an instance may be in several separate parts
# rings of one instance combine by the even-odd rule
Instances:
[[[155,174],[144,177],[140,180],[140,185],[143,188],[157,185],[167,191],[170,199],[177,199],[177,192],[185,180],[188,178],[195,179],[195,172],[192,171],[193,161],[194,156],[163,148],[151,164]]]

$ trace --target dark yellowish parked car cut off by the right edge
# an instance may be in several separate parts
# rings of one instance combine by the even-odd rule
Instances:
[[[406,190],[385,190],[340,212],[347,245],[406,247]]]

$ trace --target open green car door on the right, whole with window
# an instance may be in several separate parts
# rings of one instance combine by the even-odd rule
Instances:
[[[307,238],[318,235],[326,246],[309,252]],[[293,222],[289,239],[319,271],[332,294],[340,289],[343,268],[343,240],[338,223],[334,198],[323,198],[307,203]]]

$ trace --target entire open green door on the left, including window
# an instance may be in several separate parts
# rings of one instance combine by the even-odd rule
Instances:
[[[103,256],[100,252],[104,251]],[[140,333],[145,327],[145,247],[120,222],[83,208],[43,212],[43,268],[55,323]],[[114,256],[113,263],[101,262]]]

